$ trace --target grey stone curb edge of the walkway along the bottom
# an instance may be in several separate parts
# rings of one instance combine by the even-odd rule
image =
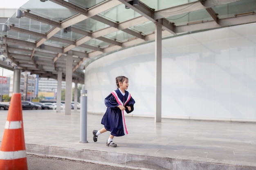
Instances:
[[[98,163],[102,165],[117,166],[144,170],[178,170],[178,169],[207,169],[207,170],[255,170],[256,163],[238,162],[216,159],[195,159],[194,157],[149,157],[145,155],[132,155],[98,150],[85,150],[63,148],[56,146],[42,146],[26,144],[27,154],[59,157],[78,161]]]

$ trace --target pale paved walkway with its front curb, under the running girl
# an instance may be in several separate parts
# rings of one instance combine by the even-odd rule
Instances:
[[[0,111],[0,140],[8,111]],[[80,111],[23,110],[28,154],[89,161],[145,170],[255,170],[256,124],[132,117],[129,134],[106,146],[109,132],[92,140],[100,114],[88,114],[87,144],[80,140]]]

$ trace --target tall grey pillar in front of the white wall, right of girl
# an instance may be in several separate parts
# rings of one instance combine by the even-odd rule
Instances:
[[[162,121],[162,25],[155,24],[155,122]]]

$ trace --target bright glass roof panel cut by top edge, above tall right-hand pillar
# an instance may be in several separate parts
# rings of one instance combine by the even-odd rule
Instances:
[[[197,0],[140,0],[148,7],[155,9],[156,11],[166,8],[175,7],[178,5],[195,2]]]

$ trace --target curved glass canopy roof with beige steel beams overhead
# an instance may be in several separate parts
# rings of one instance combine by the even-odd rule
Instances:
[[[256,22],[255,12],[256,0],[29,0],[0,26],[0,65],[56,79],[73,57],[83,83],[90,62],[153,41],[156,23],[172,38]]]

